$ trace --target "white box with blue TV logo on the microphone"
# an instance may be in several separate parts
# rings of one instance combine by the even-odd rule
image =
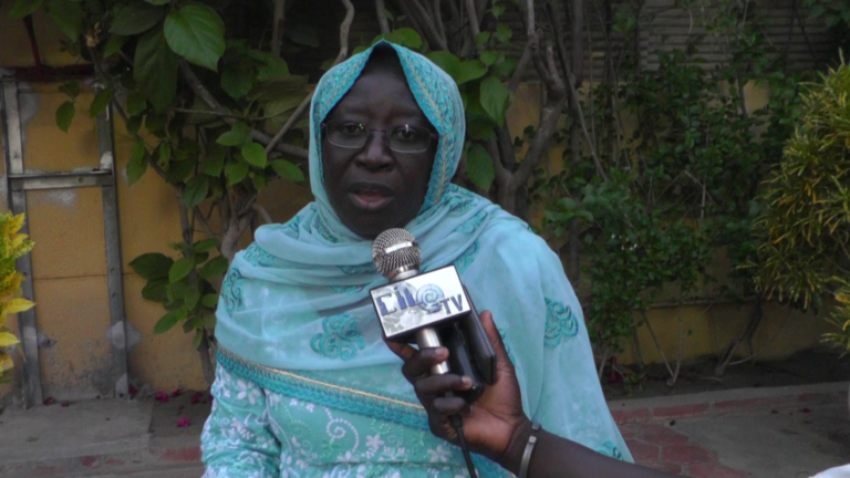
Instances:
[[[370,293],[387,339],[471,310],[454,266],[375,288]]]

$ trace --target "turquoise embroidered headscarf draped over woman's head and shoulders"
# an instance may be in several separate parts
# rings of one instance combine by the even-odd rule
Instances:
[[[425,202],[406,226],[422,248],[424,270],[454,263],[478,309],[493,311],[530,417],[552,433],[631,460],[602,396],[581,308],[559,258],[525,222],[450,184],[465,138],[455,82],[417,53],[379,44],[395,50],[440,137]],[[372,266],[372,242],[342,225],[322,180],[320,124],[374,48],[319,82],[310,111],[315,201],[284,225],[259,228],[256,242],[237,254],[222,285],[216,337],[232,356],[289,371],[291,380],[279,388],[291,396],[426,428],[422,411],[393,405],[417,402],[400,360],[381,339],[369,299],[371,288],[386,283]],[[364,399],[346,387],[386,401]]]

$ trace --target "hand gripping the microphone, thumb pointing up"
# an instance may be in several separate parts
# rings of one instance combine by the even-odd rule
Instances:
[[[469,405],[460,397],[447,397],[453,391],[471,386],[468,377],[431,375],[433,365],[448,358],[445,347],[417,351],[407,344],[386,341],[403,361],[402,373],[413,384],[416,396],[428,414],[431,432],[439,438],[457,443],[457,434],[448,417],[464,417],[464,436],[469,448],[499,463],[509,470],[518,468],[518,450],[528,439],[531,424],[522,412],[522,398],[514,364],[489,311],[481,312],[481,323],[496,351],[496,383],[488,385],[477,402]],[[521,453],[521,451],[519,451]]]

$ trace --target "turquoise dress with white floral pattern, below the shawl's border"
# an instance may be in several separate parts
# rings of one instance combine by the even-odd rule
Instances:
[[[204,478],[468,476],[460,450],[427,430],[270,392],[220,364],[212,395]]]

